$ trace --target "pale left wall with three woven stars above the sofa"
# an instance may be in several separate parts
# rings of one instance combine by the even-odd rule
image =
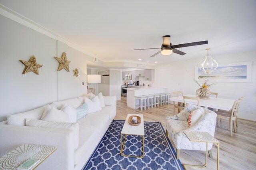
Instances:
[[[86,91],[86,62],[94,61],[65,43],[41,34],[27,26],[0,15],[0,121],[7,114],[28,111],[57,100],[84,95]],[[70,72],[57,71],[58,61],[66,52]],[[22,75],[24,65],[35,55],[39,75]],[[78,77],[73,70],[78,68]],[[84,81],[84,85],[82,85]]]

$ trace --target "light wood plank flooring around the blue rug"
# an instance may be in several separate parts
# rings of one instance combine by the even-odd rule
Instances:
[[[121,100],[117,101],[114,120],[125,120],[128,113],[143,114],[144,121],[160,122],[166,129],[165,120],[167,116],[173,115],[173,105],[162,105],[140,111],[140,109],[127,107],[126,97],[121,97]],[[220,141],[220,170],[256,170],[256,122],[238,119],[237,133],[233,133],[231,137],[228,121],[222,120],[220,126],[216,127],[214,137]],[[170,136],[169,139],[172,142]],[[173,142],[172,145],[174,146]],[[207,168],[188,167],[187,169],[216,170],[217,147],[215,145],[212,147],[212,154],[213,158],[208,156]],[[180,161],[182,164],[204,164],[205,151],[181,150]]]

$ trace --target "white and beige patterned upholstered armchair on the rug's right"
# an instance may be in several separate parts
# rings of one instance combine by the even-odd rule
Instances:
[[[203,110],[202,117],[190,127],[188,126],[188,115],[195,111],[196,109]],[[190,140],[183,133],[183,130],[188,131],[202,131],[209,132],[214,136],[215,125],[216,125],[217,114],[208,109],[204,109],[200,106],[187,104],[185,109],[182,110],[179,114],[166,117],[166,136],[170,134],[172,141],[176,146],[177,159],[179,158],[180,150],[205,150],[205,142],[190,142]],[[212,143],[208,143],[208,153],[212,157]]]

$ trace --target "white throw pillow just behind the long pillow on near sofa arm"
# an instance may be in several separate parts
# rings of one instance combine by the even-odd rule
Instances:
[[[68,114],[52,107],[48,114],[42,119],[48,122],[69,122]]]

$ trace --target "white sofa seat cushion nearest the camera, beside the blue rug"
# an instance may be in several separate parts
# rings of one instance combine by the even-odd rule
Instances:
[[[82,118],[83,119],[83,118]],[[84,157],[99,134],[99,129],[92,125],[79,125],[79,145],[75,150],[75,165]]]

